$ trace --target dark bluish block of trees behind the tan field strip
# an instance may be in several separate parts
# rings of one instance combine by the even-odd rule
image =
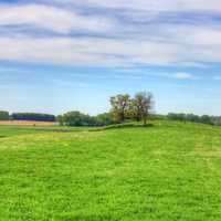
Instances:
[[[13,113],[11,119],[14,120],[34,120],[34,122],[55,122],[55,116],[39,113]]]

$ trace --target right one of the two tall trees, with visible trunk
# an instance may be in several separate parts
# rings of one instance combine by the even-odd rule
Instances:
[[[152,108],[152,95],[147,92],[139,92],[131,101],[131,108],[136,120],[144,120],[144,125],[147,124],[148,115]]]

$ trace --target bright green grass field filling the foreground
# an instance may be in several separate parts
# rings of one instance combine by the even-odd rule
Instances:
[[[0,127],[1,221],[219,221],[221,128]]]

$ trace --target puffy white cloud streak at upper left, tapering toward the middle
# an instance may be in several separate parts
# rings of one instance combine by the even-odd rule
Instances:
[[[86,17],[50,6],[1,6],[0,25],[35,25],[60,33],[72,30],[105,32],[114,27],[114,21],[105,17]]]

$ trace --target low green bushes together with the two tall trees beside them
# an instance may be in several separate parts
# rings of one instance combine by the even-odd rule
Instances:
[[[146,92],[137,93],[134,97],[118,94],[110,97],[109,102],[112,105],[109,113],[90,116],[81,112],[69,112],[57,116],[57,120],[66,126],[107,126],[135,119],[144,120],[146,125],[152,108],[152,95]]]

